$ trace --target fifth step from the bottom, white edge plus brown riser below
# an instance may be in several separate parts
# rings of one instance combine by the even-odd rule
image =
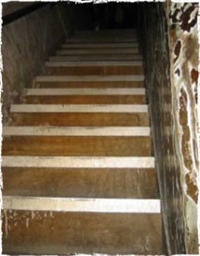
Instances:
[[[145,104],[144,88],[31,88],[28,104]]]

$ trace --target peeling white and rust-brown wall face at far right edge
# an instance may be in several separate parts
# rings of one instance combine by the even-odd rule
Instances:
[[[170,76],[173,102],[175,146],[179,157],[185,195],[186,245],[194,248],[197,215],[197,86],[199,45],[197,34],[198,4],[171,3],[167,7]],[[193,209],[193,210],[192,210]],[[189,250],[189,252],[193,252]]]

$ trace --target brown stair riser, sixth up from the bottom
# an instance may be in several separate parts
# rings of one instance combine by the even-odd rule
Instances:
[[[35,88],[144,88],[143,81],[132,82],[34,82]]]

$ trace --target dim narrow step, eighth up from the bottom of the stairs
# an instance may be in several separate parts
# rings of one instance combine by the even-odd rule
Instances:
[[[140,54],[95,54],[52,56],[49,61],[142,61]]]

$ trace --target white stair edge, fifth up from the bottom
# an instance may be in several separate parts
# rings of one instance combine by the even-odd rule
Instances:
[[[28,88],[27,96],[145,95],[145,88]]]

